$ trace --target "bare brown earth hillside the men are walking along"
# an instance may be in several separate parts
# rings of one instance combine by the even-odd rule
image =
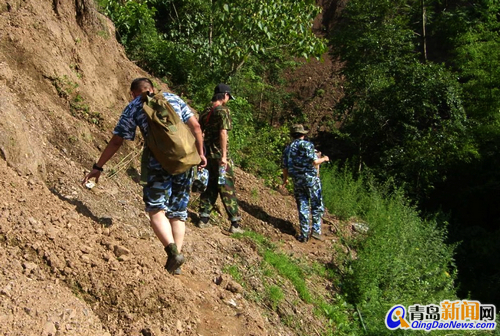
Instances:
[[[220,216],[205,230],[188,222],[184,274],[165,272],[136,182],[140,139],[108,163],[113,176],[80,185],[138,76],[147,74],[91,2],[0,0],[0,333],[319,334],[324,318],[288,280],[274,277],[278,305],[253,298],[265,290],[262,256],[252,240],[223,234]],[[245,228],[290,257],[331,260],[329,225],[325,241],[299,244],[291,196],[241,171],[237,184]],[[228,267],[241,268],[244,286]],[[331,284],[311,286],[329,295]]]

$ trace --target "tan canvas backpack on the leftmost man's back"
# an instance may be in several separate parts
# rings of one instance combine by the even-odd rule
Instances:
[[[198,165],[196,139],[163,93],[144,92],[141,99],[149,125],[146,145],[163,169],[176,175]]]

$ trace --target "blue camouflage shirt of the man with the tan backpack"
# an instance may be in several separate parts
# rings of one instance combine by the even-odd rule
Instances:
[[[177,95],[170,92],[163,92],[163,96],[168,100],[174,111],[179,115],[182,122],[187,123],[193,116],[189,106]],[[141,97],[132,100],[122,112],[118,124],[113,130],[113,134],[125,140],[134,140],[137,127],[141,130],[142,136],[148,135],[148,118],[142,109]],[[148,164],[149,169],[161,169],[160,163],[151,155]]]

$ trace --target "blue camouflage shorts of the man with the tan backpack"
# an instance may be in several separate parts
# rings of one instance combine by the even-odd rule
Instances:
[[[142,189],[146,212],[165,210],[167,218],[187,219],[193,170],[170,175],[163,169],[149,170]]]

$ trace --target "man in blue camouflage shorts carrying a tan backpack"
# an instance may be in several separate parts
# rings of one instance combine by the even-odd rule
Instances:
[[[146,212],[149,214],[153,231],[168,255],[165,268],[171,274],[180,274],[180,266],[184,263],[184,256],[180,252],[184,242],[193,174],[191,167],[198,163],[200,167],[206,165],[201,128],[180,97],[167,92],[154,95],[153,83],[148,78],[135,79],[130,91],[134,99],[123,110],[113,131],[113,137],[92,167],[92,171],[85,176],[83,183],[87,183],[91,178],[95,178],[97,182],[104,164],[118,151],[124,139],[134,140],[136,128],[139,127],[147,144],[146,156],[143,158],[146,161],[142,165],[146,168],[144,170],[147,170],[147,176],[144,176],[145,171],[141,171],[145,181],[143,200]],[[170,113],[172,110],[176,115]],[[182,129],[184,124],[190,132],[186,133]],[[172,141],[168,148],[162,148],[165,137]],[[189,137],[194,137],[187,140],[191,145],[182,144],[181,140]],[[176,149],[167,153],[169,148]],[[183,148],[183,152],[177,152],[178,148]],[[188,153],[185,152],[186,149]],[[193,151],[197,152],[197,155],[193,155]],[[165,160],[164,155],[168,156],[168,159]]]

